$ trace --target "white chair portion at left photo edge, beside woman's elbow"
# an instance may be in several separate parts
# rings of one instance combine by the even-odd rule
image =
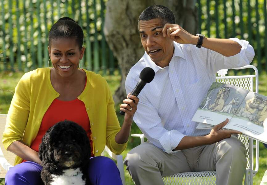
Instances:
[[[5,125],[6,125],[6,116],[7,114],[0,114],[0,178],[5,178],[6,176],[6,170],[2,167],[3,163],[6,163],[6,161],[11,164],[14,165],[14,161],[15,161],[15,157],[16,155],[13,154],[12,152],[7,151],[3,144],[2,144],[2,133],[5,130]]]

